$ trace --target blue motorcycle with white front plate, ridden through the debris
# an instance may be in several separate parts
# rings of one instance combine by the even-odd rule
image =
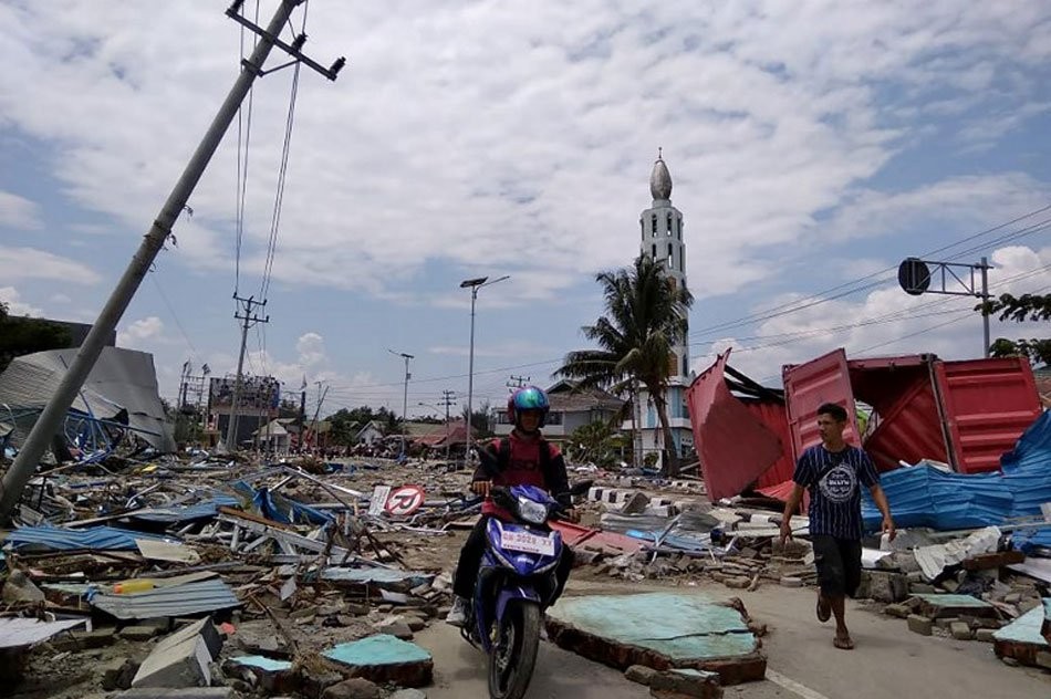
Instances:
[[[562,535],[547,526],[562,505],[534,486],[495,487],[493,502],[517,520],[489,520],[464,638],[489,656],[489,696],[521,699],[529,688],[543,611],[558,583]]]

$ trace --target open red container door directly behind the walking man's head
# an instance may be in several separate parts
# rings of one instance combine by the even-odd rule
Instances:
[[[787,366],[782,378],[795,460],[799,460],[809,447],[821,444],[821,436],[818,434],[818,408],[824,403],[843,406],[847,420],[843,439],[855,447],[861,446],[845,351],[840,348],[805,364]]]

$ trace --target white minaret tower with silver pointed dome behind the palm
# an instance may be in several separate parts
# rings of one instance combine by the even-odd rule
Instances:
[[[686,241],[683,239],[683,212],[672,206],[672,174],[660,150],[649,175],[649,194],[653,204],[638,217],[639,252],[656,262],[663,262],[676,285],[686,288]],[[668,419],[672,424],[674,448],[681,456],[691,448],[694,438],[689,414],[686,410],[686,389],[690,383],[689,345],[683,337],[672,348],[668,357]],[[638,420],[643,456],[665,448],[660,420],[643,390],[638,396]]]

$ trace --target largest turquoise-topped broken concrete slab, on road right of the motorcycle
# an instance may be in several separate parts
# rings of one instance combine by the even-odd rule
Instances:
[[[762,679],[767,667],[742,613],[698,595],[563,598],[548,612],[547,628],[562,648],[621,670],[693,668],[735,685]]]

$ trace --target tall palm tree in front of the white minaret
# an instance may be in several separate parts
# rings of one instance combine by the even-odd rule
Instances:
[[[648,254],[636,258],[633,267],[602,272],[595,281],[602,286],[606,313],[582,331],[599,348],[570,352],[555,376],[575,379],[577,389],[597,386],[614,394],[629,392],[636,380],[642,384],[664,432],[666,473],[674,476],[679,460],[668,421],[667,388],[668,377],[678,368],[670,354],[686,337],[686,311],[694,296]]]

